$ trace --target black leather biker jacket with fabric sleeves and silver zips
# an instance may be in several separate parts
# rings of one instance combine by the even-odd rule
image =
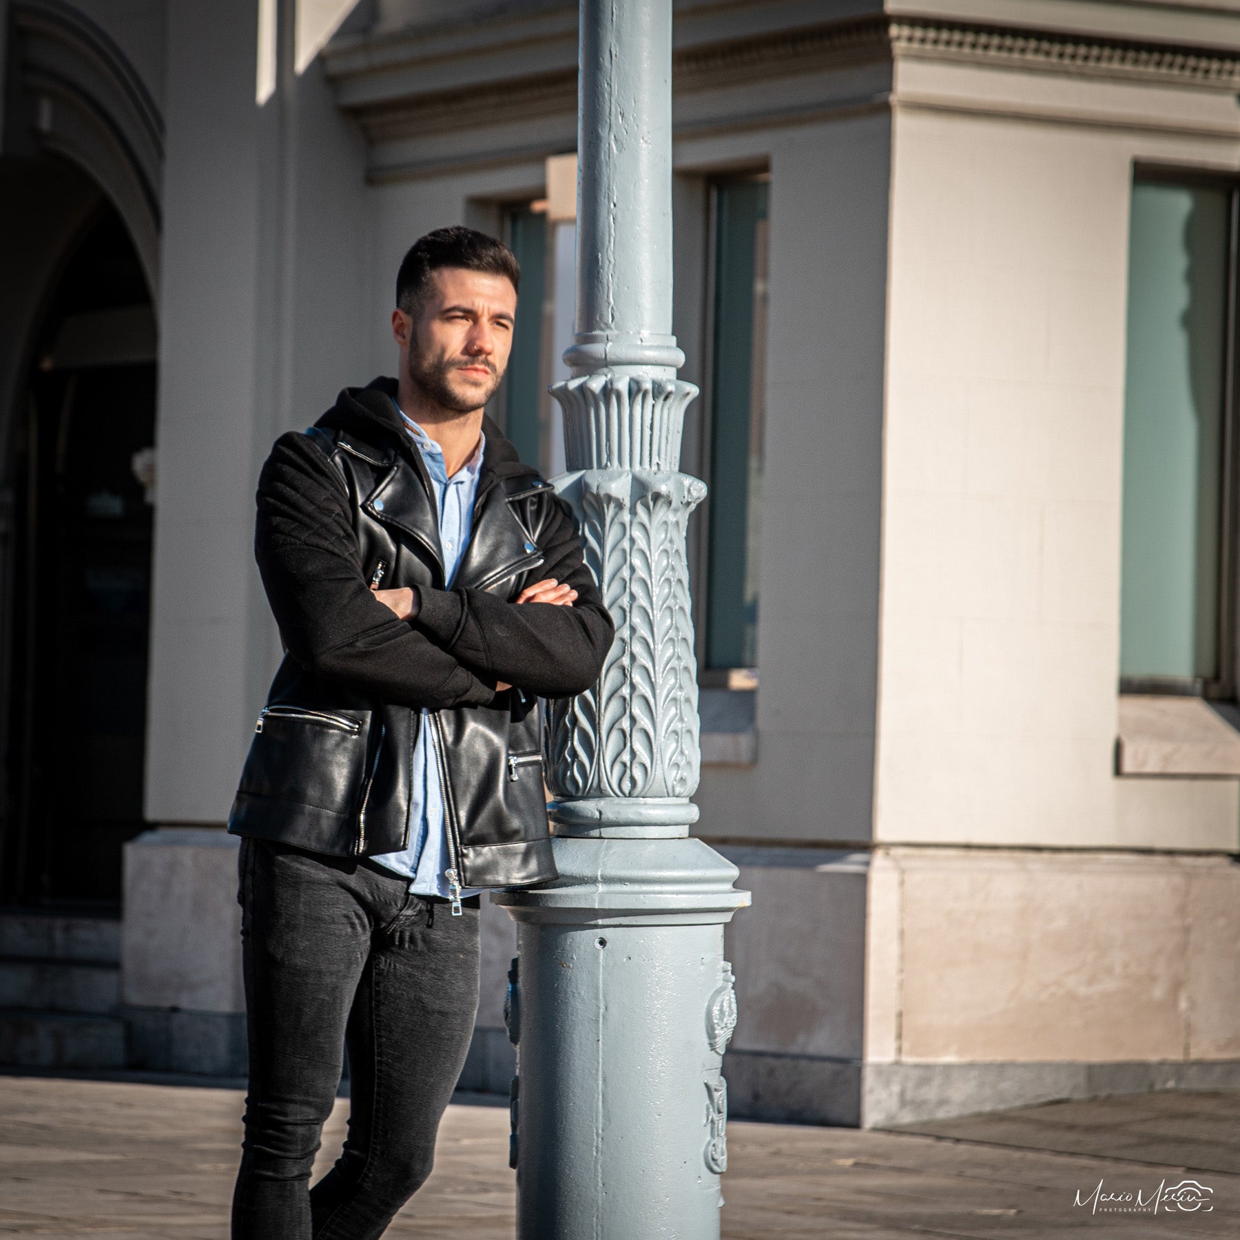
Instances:
[[[449,882],[544,882],[556,866],[538,698],[594,683],[611,619],[570,511],[489,419],[470,542],[445,589],[430,480],[394,396],[392,379],[346,389],[263,467],[255,556],[286,653],[228,830],[334,856],[405,848],[427,708]],[[414,620],[373,598],[377,577],[418,587]],[[515,605],[544,577],[572,584],[575,604]]]

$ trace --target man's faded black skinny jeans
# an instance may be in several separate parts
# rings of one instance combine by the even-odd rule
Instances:
[[[370,862],[241,846],[249,1032],[233,1240],[371,1240],[430,1174],[477,1011],[479,901]],[[348,1043],[348,1137],[309,1188]]]

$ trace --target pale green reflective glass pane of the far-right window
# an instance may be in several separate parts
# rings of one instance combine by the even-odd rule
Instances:
[[[1230,193],[1132,191],[1120,675],[1219,675]]]

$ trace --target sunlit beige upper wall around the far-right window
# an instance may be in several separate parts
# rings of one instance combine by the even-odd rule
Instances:
[[[1115,779],[1133,166],[1240,166],[1216,91],[899,62],[875,837],[1234,848]]]

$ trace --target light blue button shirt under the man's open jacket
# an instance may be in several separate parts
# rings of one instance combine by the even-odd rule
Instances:
[[[477,495],[477,474],[482,467],[482,449],[486,436],[479,435],[477,451],[455,472],[448,476],[444,450],[412,418],[398,409],[409,436],[418,445],[422,460],[430,475],[439,511],[439,552],[444,562],[444,584],[451,585],[461,556],[469,543],[474,525],[474,497]],[[384,853],[372,861],[413,879],[409,890],[418,895],[450,897],[444,870],[451,868],[448,847],[448,823],[444,818],[444,790],[439,782],[439,764],[435,761],[433,743],[427,735],[429,712],[422,712],[418,744],[413,750],[413,773],[409,789],[409,847],[404,852]],[[476,888],[466,888],[461,897],[476,895]]]

